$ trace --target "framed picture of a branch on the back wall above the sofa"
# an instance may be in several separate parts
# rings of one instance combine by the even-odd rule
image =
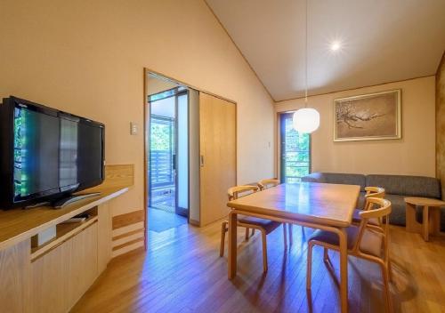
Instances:
[[[334,100],[334,141],[401,139],[401,90]]]

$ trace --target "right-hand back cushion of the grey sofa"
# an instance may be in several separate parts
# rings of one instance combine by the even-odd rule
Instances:
[[[383,187],[387,194],[414,197],[441,197],[441,181],[433,177],[368,175],[367,186]]]

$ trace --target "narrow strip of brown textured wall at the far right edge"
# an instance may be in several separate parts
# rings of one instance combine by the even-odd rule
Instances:
[[[445,199],[445,53],[436,74],[436,167]]]

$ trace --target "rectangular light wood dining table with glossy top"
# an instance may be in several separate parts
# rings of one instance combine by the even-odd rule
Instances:
[[[283,183],[228,202],[229,279],[237,275],[237,220],[247,215],[271,221],[323,229],[339,237],[341,311],[348,311],[348,246],[346,229],[352,224],[360,186],[317,182]]]

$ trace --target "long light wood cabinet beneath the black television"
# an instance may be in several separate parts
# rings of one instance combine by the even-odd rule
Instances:
[[[68,312],[111,259],[109,200],[133,185],[133,165],[108,165],[106,179],[85,192],[101,196],[61,210],[0,210],[0,312]],[[64,221],[88,213],[85,221]],[[55,237],[31,247],[31,238],[55,229]]]

